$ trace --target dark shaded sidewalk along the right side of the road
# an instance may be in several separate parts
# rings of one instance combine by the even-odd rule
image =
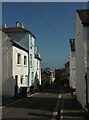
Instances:
[[[67,89],[62,88],[62,102],[60,120],[89,120],[80,103],[71,96]]]

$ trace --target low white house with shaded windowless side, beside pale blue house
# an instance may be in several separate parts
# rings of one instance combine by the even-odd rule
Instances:
[[[12,97],[28,87],[28,51],[2,33],[2,96]]]

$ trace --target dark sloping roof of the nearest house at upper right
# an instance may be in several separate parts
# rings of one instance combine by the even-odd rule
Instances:
[[[84,26],[89,26],[89,9],[76,10]]]

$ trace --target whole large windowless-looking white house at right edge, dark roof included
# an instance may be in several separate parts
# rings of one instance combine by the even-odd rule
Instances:
[[[89,10],[76,10],[76,95],[89,106]]]

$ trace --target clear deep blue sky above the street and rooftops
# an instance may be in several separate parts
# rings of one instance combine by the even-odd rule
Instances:
[[[4,2],[2,25],[24,28],[36,36],[41,67],[53,71],[69,60],[69,39],[75,38],[76,9],[86,9],[85,2]]]

